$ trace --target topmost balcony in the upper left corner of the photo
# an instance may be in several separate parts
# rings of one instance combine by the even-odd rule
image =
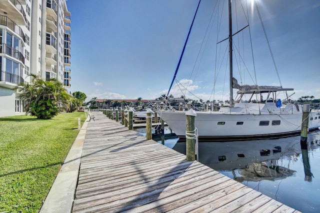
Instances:
[[[26,15],[18,0],[0,0],[0,13],[6,14],[18,25],[26,24]]]

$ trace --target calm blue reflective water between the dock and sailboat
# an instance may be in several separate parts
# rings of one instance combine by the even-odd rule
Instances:
[[[168,139],[165,145],[185,154],[185,142]],[[302,149],[300,136],[200,142],[199,161],[299,211],[320,212],[319,147],[320,131],[309,133]]]

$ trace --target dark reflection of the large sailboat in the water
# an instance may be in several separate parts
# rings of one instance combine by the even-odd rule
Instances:
[[[297,161],[298,156],[302,153],[305,180],[311,181],[312,174],[307,148],[308,146],[311,149],[317,148],[319,136],[318,133],[310,133],[308,145],[300,144],[300,136],[264,140],[199,142],[198,160],[221,173],[231,172],[232,175],[228,176],[239,182],[277,180],[295,175],[296,171],[290,169],[290,162]],[[185,154],[185,142],[177,142],[173,149]],[[286,159],[285,164],[283,164],[283,159]]]

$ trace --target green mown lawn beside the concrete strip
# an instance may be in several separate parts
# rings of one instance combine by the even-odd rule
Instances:
[[[84,112],[50,120],[0,117],[0,212],[37,212],[81,125]]]

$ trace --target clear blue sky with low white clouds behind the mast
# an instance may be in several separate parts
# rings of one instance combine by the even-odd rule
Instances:
[[[208,25],[212,11],[212,20],[217,22],[215,2],[201,0],[176,76],[203,100],[225,100],[229,96],[229,84],[224,80],[226,60],[215,62],[223,57],[227,45],[222,42],[222,56],[216,56],[216,42],[228,35],[227,24],[221,22],[218,35],[216,26]],[[154,99],[166,93],[197,3],[198,0],[67,0],[71,12],[70,91],[84,92],[88,99]],[[258,0],[257,4],[281,85],[294,88],[293,99],[304,95],[320,98],[320,1]],[[234,23],[237,21],[238,28],[245,26],[233,18]],[[280,85],[256,11],[249,21],[256,82]],[[233,28],[235,32],[236,27]],[[245,53],[245,59],[248,56]],[[233,59],[236,69],[251,69],[248,64],[239,65],[241,60]],[[235,72],[238,82],[254,84],[255,80],[245,79],[255,79],[250,77],[252,72]],[[212,90],[214,82],[216,87]],[[180,89],[183,86],[174,84],[170,93],[174,97],[189,96]]]

